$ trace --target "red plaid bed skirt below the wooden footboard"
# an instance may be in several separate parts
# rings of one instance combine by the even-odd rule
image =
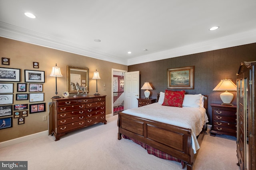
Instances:
[[[154,155],[158,158],[167,159],[167,160],[174,160],[176,162],[180,162],[181,165],[182,165],[182,168],[185,168],[185,163],[182,160],[180,160],[178,158],[175,158],[174,156],[171,156],[170,154],[166,154],[165,152],[162,152],[162,151],[160,151],[156,148],[148,146],[147,144],[144,144],[143,142],[135,140],[134,138],[130,138],[129,136],[125,136],[125,135],[122,134],[122,137],[125,138],[125,139],[132,140],[136,144],[139,144],[140,146],[142,146],[142,148],[144,148],[148,151],[148,154],[152,154],[152,155]]]

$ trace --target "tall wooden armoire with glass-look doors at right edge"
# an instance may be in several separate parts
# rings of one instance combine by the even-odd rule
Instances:
[[[237,73],[236,153],[241,170],[256,170],[256,61],[242,62]]]

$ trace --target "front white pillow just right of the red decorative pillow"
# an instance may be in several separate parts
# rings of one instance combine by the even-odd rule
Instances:
[[[184,107],[201,107],[202,94],[198,95],[185,95],[182,106]]]

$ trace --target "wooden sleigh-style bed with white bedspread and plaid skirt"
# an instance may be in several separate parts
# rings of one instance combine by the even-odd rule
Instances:
[[[184,106],[179,108],[162,106],[160,102],[162,96],[162,92],[158,93],[157,103],[139,108],[127,109],[118,113],[118,140],[122,139],[122,137],[133,140],[147,149],[149,154],[154,154],[155,156],[168,160],[176,160],[182,163],[182,168],[186,165],[187,170],[192,170],[196,152],[200,148],[200,142],[204,135],[202,129],[206,127],[205,123],[208,122],[206,115],[208,96],[201,95],[201,107],[198,109],[204,112],[204,114],[200,113],[203,117],[200,119],[204,119],[204,123],[200,123],[200,130],[195,130],[194,125],[183,125],[182,123],[177,122],[176,119],[178,119],[178,116],[174,116],[174,118],[168,120],[167,117],[169,117],[170,114],[167,113],[167,115],[163,115],[163,112],[166,110],[159,109],[158,107],[164,107],[168,110],[174,109],[175,111],[180,109],[184,114],[190,113],[190,109],[197,109]],[[185,95],[185,98],[186,96],[188,95]],[[191,101],[189,102],[191,103]],[[148,115],[146,112],[150,114]],[[174,115],[174,113],[172,114]],[[179,116],[183,117],[182,115]],[[190,118],[192,119],[192,117]],[[187,120],[184,122],[186,121]]]

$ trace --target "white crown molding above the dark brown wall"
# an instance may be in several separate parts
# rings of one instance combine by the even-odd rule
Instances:
[[[150,61],[157,61],[161,59],[168,59],[173,57],[179,57],[183,55],[202,53],[206,51],[212,51],[216,49],[223,49],[228,47],[234,47],[238,45],[245,45],[256,42],[256,29],[239,34],[233,34],[222,38],[216,38],[213,40],[194,43],[174,49],[168,49],[148,55],[142,55],[140,57],[130,58],[127,61],[127,65],[134,65],[139,63],[146,63]]]

